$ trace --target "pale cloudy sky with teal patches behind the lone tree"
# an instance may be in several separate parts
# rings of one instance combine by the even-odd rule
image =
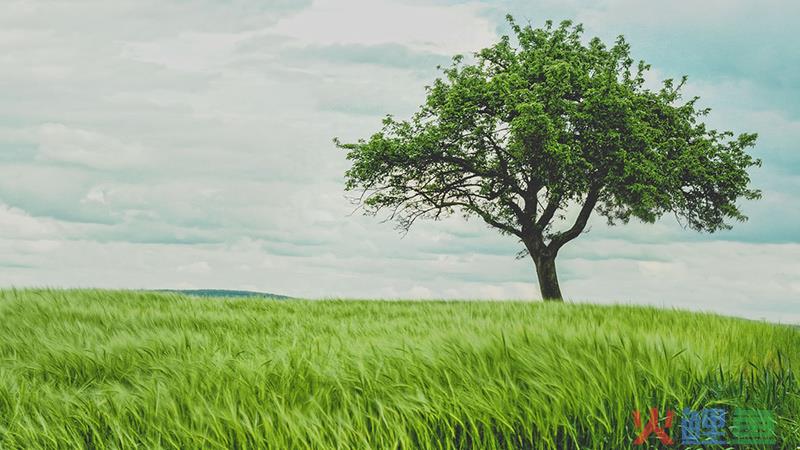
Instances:
[[[351,215],[331,143],[423,101],[436,65],[503,17],[624,34],[652,78],[690,76],[711,125],[760,134],[750,221],[591,231],[559,255],[574,300],[800,323],[795,1],[3,2],[0,286],[251,289],[303,297],[538,297],[478,222],[405,237]]]

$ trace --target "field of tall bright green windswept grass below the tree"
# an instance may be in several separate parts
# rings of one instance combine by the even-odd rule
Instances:
[[[798,349],[644,307],[3,290],[0,448],[630,448],[633,409],[747,407],[794,449]]]

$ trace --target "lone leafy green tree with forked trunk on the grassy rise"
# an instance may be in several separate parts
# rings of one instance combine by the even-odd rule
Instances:
[[[524,245],[545,300],[561,300],[555,258],[593,212],[609,225],[653,223],[673,213],[713,233],[744,221],[756,199],[746,153],[756,134],[734,137],[701,121],[710,109],[682,101],[686,82],[645,87],[622,36],[584,44],[570,21],[519,26],[426,87],[410,120],[392,116],[369,139],[336,145],[352,167],[346,189],[365,213],[389,211],[403,230],[419,218],[476,216]]]

